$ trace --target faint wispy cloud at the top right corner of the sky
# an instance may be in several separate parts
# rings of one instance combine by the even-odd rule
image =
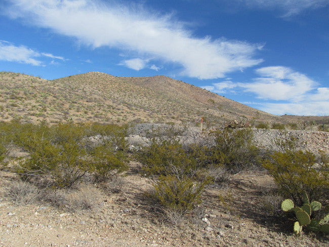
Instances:
[[[282,17],[300,14],[307,9],[318,9],[329,5],[328,0],[236,0],[250,8],[278,9]]]

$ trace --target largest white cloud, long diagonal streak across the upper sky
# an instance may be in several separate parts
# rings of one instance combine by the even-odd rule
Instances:
[[[228,72],[262,62],[254,59],[262,49],[259,44],[195,37],[172,16],[136,5],[133,10],[92,0],[11,2],[7,13],[12,18],[75,37],[94,48],[108,46],[172,62],[182,66],[182,75],[190,77],[224,77]]]

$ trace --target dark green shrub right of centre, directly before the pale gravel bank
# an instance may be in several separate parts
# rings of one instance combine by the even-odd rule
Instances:
[[[212,162],[233,172],[259,164],[260,150],[253,145],[251,129],[224,129],[215,133]]]

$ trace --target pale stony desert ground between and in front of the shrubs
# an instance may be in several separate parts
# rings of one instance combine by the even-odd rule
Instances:
[[[130,140],[147,141],[145,133],[130,133]],[[296,135],[304,145],[300,148],[328,152],[329,133],[279,133],[258,130],[256,141],[270,146],[275,138]],[[329,246],[329,238],[321,234],[295,236],[293,222],[270,210],[269,205],[278,205],[282,198],[263,170],[236,174],[225,186],[209,185],[196,211],[176,224],[147,199],[151,183],[139,170],[139,164],[131,162],[115,184],[80,184],[79,194],[72,192],[71,203],[63,205],[43,191],[27,204],[15,203],[6,194],[19,179],[0,171],[0,246]],[[88,207],[77,207],[84,203]]]

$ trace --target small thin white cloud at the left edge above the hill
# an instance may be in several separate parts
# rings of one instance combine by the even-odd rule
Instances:
[[[9,42],[0,42],[0,60],[19,62],[38,66],[42,61],[36,60],[40,54],[25,46],[14,46]]]

